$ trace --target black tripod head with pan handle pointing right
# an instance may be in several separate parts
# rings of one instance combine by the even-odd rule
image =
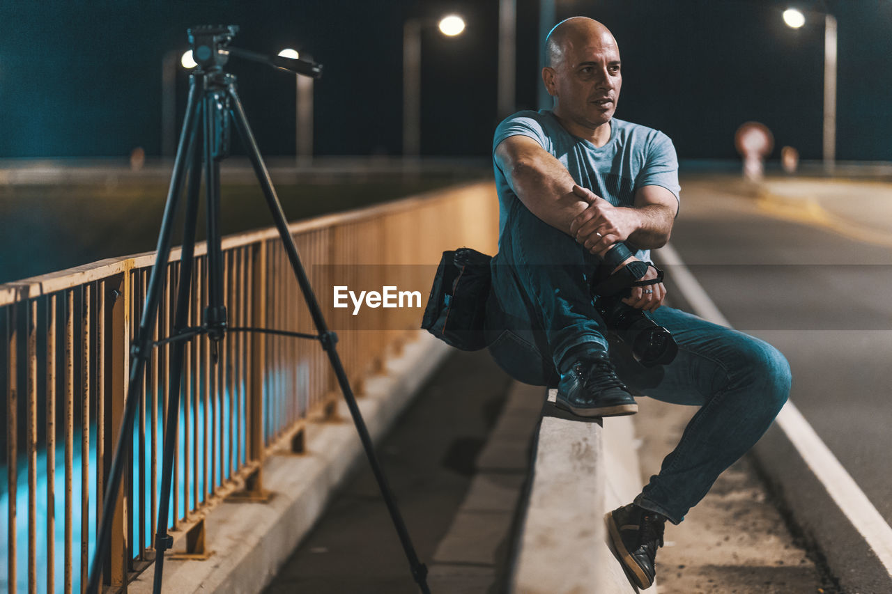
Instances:
[[[237,25],[199,25],[188,29],[189,43],[192,45],[192,56],[202,71],[221,70],[235,55],[252,62],[268,64],[277,70],[286,70],[294,74],[310,78],[322,77],[322,64],[305,58],[286,58],[276,55],[268,56],[230,47],[229,42],[238,33]]]

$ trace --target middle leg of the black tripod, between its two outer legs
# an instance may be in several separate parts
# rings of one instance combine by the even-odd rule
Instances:
[[[201,107],[199,107],[199,112]],[[188,323],[189,291],[192,285],[192,269],[195,252],[195,227],[198,221],[198,193],[202,186],[202,151],[199,150],[201,136],[195,134],[192,143],[192,166],[189,169],[189,191],[186,202],[186,220],[183,232],[183,257],[180,260],[179,285],[177,291],[177,309],[174,320],[174,334],[178,334]],[[164,420],[164,457],[161,461],[161,499],[158,503],[158,524],[155,533],[155,573],[153,592],[161,592],[164,573],[164,551],[170,548],[168,536],[170,489],[173,483],[173,458],[177,449],[179,433],[179,394],[182,389],[184,341],[176,341],[171,345],[170,353],[170,400],[167,418]],[[175,509],[174,514],[178,513]]]

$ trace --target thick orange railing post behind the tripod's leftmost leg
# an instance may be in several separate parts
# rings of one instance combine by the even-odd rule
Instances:
[[[130,287],[130,272],[124,271],[120,275],[112,276],[105,282],[107,293],[103,295],[106,300],[105,328],[108,335],[105,337],[105,369],[109,371],[105,379],[105,439],[107,443],[117,443],[120,438],[120,422],[124,417],[124,400],[127,397],[127,385],[130,373],[130,301],[133,294]],[[108,450],[108,449],[106,449]],[[103,484],[108,483],[111,473],[111,456],[103,459]],[[129,476],[129,460],[125,461],[123,476]],[[113,589],[127,590],[128,559],[128,530],[127,500],[128,489],[121,485],[118,492],[118,501],[114,508],[114,520],[111,523],[111,546],[109,558],[105,560],[106,584]]]

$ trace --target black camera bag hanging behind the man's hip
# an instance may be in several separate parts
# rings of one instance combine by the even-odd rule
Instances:
[[[462,351],[483,349],[490,260],[471,248],[443,252],[421,327]]]

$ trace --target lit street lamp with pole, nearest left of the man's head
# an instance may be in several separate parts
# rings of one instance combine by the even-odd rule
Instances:
[[[421,29],[427,21],[409,19],[402,26],[402,153],[417,157],[421,146]],[[465,30],[457,14],[444,16],[440,32],[456,37]]]

